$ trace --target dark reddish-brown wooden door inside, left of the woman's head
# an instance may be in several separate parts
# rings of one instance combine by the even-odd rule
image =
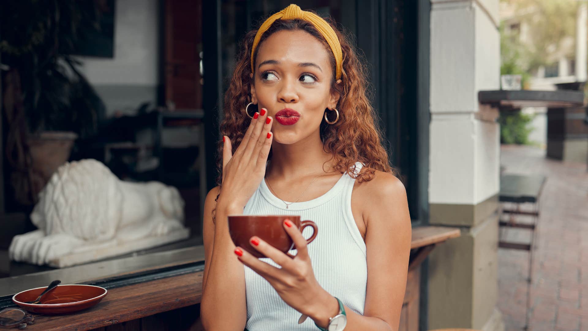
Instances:
[[[165,104],[202,109],[202,0],[165,0]]]

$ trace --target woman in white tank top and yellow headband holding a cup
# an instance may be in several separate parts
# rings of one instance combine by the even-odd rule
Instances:
[[[204,207],[206,329],[398,328],[410,217],[368,85],[346,36],[296,5],[246,35],[225,97],[220,186]],[[296,257],[252,237],[270,257],[256,259],[229,237],[226,217],[243,213],[300,215],[319,234],[306,247],[286,220]]]

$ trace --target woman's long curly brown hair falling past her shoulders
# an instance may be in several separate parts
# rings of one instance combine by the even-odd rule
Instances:
[[[359,183],[372,180],[375,170],[395,174],[395,170],[389,164],[386,150],[382,146],[382,131],[377,127],[376,113],[370,104],[368,69],[360,61],[360,57],[348,36],[336,27],[332,19],[325,20],[331,25],[341,44],[343,52],[342,83],[336,84],[335,58],[325,38],[310,22],[301,19],[276,20],[262,35],[253,56],[256,58],[263,41],[278,31],[302,30],[319,39],[330,54],[333,72],[331,88],[340,94],[338,107],[336,107],[340,114],[339,120],[335,124],[328,124],[323,118],[320,123],[320,139],[325,151],[333,155],[334,169],[342,174],[348,173]],[[250,54],[256,32],[257,29],[249,31],[240,42],[235,72],[225,94],[224,118],[220,124],[220,133],[229,137],[233,153],[241,143],[250,121],[250,118],[245,114],[245,107],[251,100],[250,90],[253,79],[251,78]],[[219,170],[216,181],[219,186],[222,180],[222,146],[222,142],[219,141],[216,163]],[[271,159],[271,157],[270,152],[268,158]],[[356,175],[353,171],[357,161],[365,166]]]

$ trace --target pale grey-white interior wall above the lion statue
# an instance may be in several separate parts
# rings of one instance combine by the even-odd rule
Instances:
[[[106,104],[106,115],[132,114],[157,101],[159,1],[116,0],[114,57],[78,57],[81,71]]]

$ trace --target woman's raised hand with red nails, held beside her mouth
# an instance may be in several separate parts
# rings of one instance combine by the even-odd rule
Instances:
[[[273,140],[273,118],[267,115],[265,108],[255,113],[235,154],[229,137],[223,137],[222,186],[217,208],[244,208],[263,180]]]

